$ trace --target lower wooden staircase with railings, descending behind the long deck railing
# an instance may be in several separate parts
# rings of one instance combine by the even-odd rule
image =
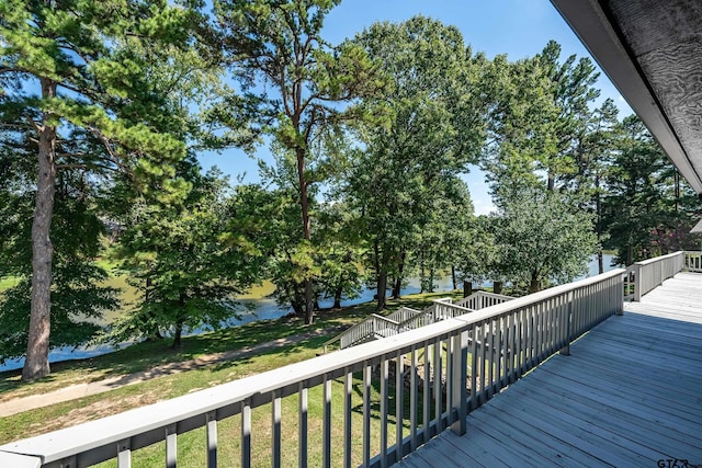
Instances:
[[[486,307],[502,304],[510,299],[509,296],[479,290],[461,300],[451,298],[437,299],[423,310],[409,307],[400,307],[388,316],[372,313],[365,320],[346,330],[325,343],[325,353],[328,347],[339,342],[341,350],[382,338],[393,336],[409,330],[435,323],[440,320],[463,316]]]

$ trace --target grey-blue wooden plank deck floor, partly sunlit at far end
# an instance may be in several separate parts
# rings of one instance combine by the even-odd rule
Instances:
[[[396,466],[702,467],[702,274],[626,304],[467,421]]]

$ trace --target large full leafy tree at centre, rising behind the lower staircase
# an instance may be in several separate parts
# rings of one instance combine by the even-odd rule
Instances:
[[[377,308],[385,307],[419,233],[430,222],[433,197],[476,160],[485,137],[485,58],[474,56],[452,26],[416,16],[375,23],[354,42],[383,64],[392,89],[366,106],[389,109],[389,126],[363,128],[363,151],[353,157],[340,189],[359,215],[375,275]]]

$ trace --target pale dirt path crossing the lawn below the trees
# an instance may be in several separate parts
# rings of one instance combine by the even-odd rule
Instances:
[[[260,353],[261,351],[272,350],[276,347],[286,346],[288,344],[299,343],[304,340],[308,340],[314,336],[332,334],[339,330],[325,329],[316,330],[307,333],[296,334],[293,336],[281,338],[275,341],[270,341],[254,346],[247,346],[240,350],[227,351],[224,353],[210,354],[201,356],[190,361],[183,361],[180,363],[169,363],[161,366],[150,368],[134,374],[118,375],[105,378],[103,380],[97,380],[86,384],[71,385],[60,390],[49,391],[47,393],[32,395],[29,397],[16,398],[14,400],[0,403],[0,418],[18,414],[23,411],[33,410],[36,408],[44,408],[63,401],[75,400],[90,395],[103,393],[105,391],[114,390],[115,388],[124,387],[127,385],[139,384],[146,380],[150,380],[156,377],[177,374],[184,370],[192,370],[200,367],[205,367],[212,364],[217,364],[226,361],[239,359],[248,357],[250,355]]]

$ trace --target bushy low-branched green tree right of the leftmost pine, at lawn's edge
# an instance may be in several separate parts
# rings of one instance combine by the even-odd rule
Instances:
[[[106,340],[171,335],[179,346],[184,332],[237,317],[234,296],[260,281],[259,251],[226,222],[228,182],[189,172],[193,190],[182,204],[134,202],[115,255],[141,295]]]

